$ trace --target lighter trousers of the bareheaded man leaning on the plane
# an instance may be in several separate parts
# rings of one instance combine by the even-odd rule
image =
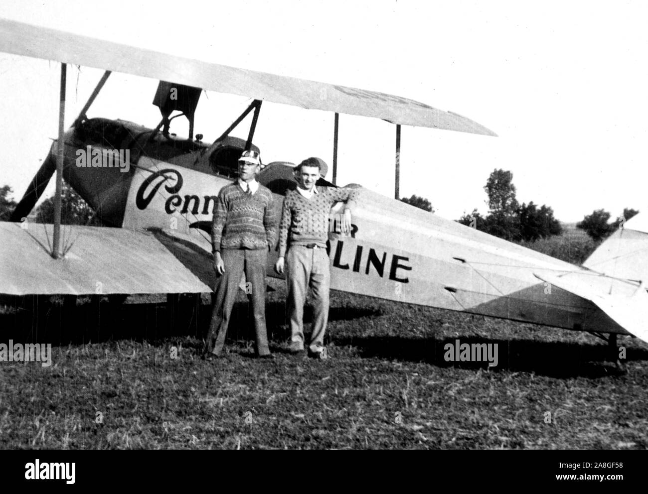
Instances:
[[[290,349],[304,350],[304,304],[308,287],[313,292],[313,333],[308,348],[321,352],[329,321],[330,265],[323,247],[291,245],[286,254]]]

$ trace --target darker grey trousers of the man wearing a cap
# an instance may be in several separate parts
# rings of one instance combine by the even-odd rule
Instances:
[[[216,288],[216,300],[207,334],[207,352],[222,354],[234,302],[237,299],[238,285],[245,272],[246,288],[250,288],[248,298],[252,303],[254,327],[256,330],[257,355],[270,354],[268,332],[266,330],[266,260],[267,249],[223,249],[220,253],[225,265],[225,273],[220,276]],[[248,283],[251,284],[248,285]]]

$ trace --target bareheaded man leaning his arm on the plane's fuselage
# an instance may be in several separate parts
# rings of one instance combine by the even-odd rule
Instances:
[[[279,225],[279,259],[275,271],[286,270],[288,313],[290,314],[290,351],[303,354],[303,315],[308,286],[313,291],[313,333],[308,354],[327,358],[324,333],[329,320],[330,265],[326,243],[329,238],[331,207],[343,201],[346,205],[341,221],[343,233],[351,230],[351,212],[355,207],[355,190],[351,188],[316,188],[321,163],[308,158],[295,166],[297,190],[284,199]],[[286,249],[288,253],[286,254]]]

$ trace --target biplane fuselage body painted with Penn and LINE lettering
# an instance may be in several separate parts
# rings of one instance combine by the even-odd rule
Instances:
[[[244,146],[233,137],[210,145],[131,122],[93,119],[66,133],[64,177],[106,223],[168,230],[211,253],[216,196],[235,179]],[[94,150],[97,161],[82,166],[80,153]],[[124,157],[128,151],[128,166],[98,160],[119,151]],[[286,191],[295,186],[292,168],[271,164],[259,182],[272,190],[279,215]],[[341,203],[329,218],[333,289],[559,328],[627,333],[592,302],[534,275],[583,268],[358,187],[351,234],[340,233]],[[275,250],[268,258],[270,276],[278,276],[272,269],[276,255]]]

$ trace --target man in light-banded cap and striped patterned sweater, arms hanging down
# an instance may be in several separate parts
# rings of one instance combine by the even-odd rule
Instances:
[[[218,193],[211,229],[214,269],[220,275],[207,335],[205,358],[221,357],[229,317],[245,272],[251,283],[256,352],[272,359],[266,332],[266,259],[275,246],[277,218],[272,192],[256,180],[259,153],[244,151],[238,161],[239,179]]]

